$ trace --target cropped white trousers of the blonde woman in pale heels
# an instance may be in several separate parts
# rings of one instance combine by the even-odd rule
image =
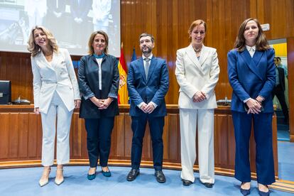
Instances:
[[[55,91],[47,114],[40,113],[43,128],[42,165],[50,166],[54,162],[55,133],[57,133],[56,159],[58,165],[70,162],[70,123],[72,111],[68,111]],[[56,131],[57,117],[57,131]]]

